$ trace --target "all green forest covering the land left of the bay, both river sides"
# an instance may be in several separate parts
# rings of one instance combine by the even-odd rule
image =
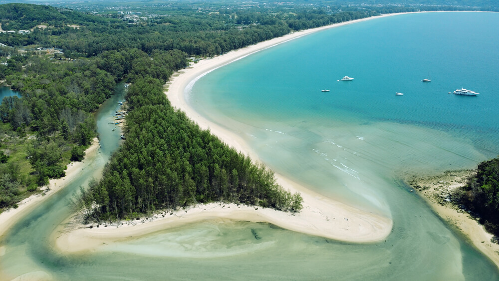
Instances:
[[[64,176],[70,160],[83,159],[96,136],[93,113],[121,79],[132,83],[127,140],[103,180],[85,193],[87,203],[100,206],[97,217],[213,200],[299,210],[299,195],[282,190],[270,171],[173,110],[161,85],[190,57],[294,30],[380,13],[469,9],[305,0],[115,3],[0,5],[1,29],[11,31],[0,32],[0,81],[21,93],[0,105],[0,210]]]

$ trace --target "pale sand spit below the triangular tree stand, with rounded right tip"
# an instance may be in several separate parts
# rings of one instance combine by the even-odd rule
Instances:
[[[284,184],[287,188],[294,183]],[[80,225],[81,227],[72,230],[61,226],[52,234],[52,241],[55,241],[56,249],[63,253],[94,251],[99,246],[126,242],[190,223],[224,220],[271,223],[300,233],[356,243],[377,242],[391,232],[392,221],[388,218],[355,209],[310,191],[302,192],[302,196],[304,208],[299,213],[217,202],[174,212],[165,211],[138,221],[122,221],[111,225],[103,223],[92,228]],[[69,225],[74,227],[77,224]]]

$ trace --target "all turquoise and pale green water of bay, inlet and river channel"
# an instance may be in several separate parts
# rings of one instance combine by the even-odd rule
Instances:
[[[250,55],[188,93],[273,170],[393,218],[386,241],[338,243],[268,224],[205,221],[66,256],[51,249],[49,235],[67,216],[67,192],[3,237],[0,270],[56,280],[498,280],[497,268],[401,180],[473,168],[498,154],[496,26],[496,13],[369,20]],[[336,81],[345,75],[355,79]],[[448,94],[461,87],[480,95]],[[109,126],[109,106],[98,117],[102,134],[110,132],[100,128]]]

